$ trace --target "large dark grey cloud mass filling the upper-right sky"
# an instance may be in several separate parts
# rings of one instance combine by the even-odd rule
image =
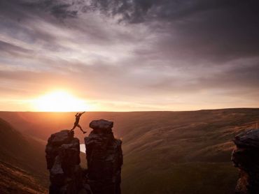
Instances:
[[[97,0],[106,15],[157,31],[156,47],[172,58],[228,61],[259,53],[259,3],[248,0]]]

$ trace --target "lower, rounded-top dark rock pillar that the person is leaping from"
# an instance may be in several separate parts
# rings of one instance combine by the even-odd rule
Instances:
[[[85,170],[80,167],[80,145],[73,132],[61,130],[48,139],[45,148],[50,170],[50,194],[90,194]]]

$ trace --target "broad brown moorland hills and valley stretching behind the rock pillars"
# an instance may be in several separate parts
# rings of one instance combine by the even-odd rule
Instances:
[[[0,112],[23,134],[47,140],[73,125],[73,112]],[[86,112],[80,121],[114,121],[123,139],[123,194],[233,193],[238,171],[232,138],[255,128],[259,109],[186,112]],[[76,130],[83,142],[83,134]]]

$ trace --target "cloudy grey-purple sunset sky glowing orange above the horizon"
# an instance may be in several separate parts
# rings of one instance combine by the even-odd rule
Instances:
[[[252,0],[0,0],[0,110],[38,111],[55,91],[89,111],[259,107],[258,10]]]

